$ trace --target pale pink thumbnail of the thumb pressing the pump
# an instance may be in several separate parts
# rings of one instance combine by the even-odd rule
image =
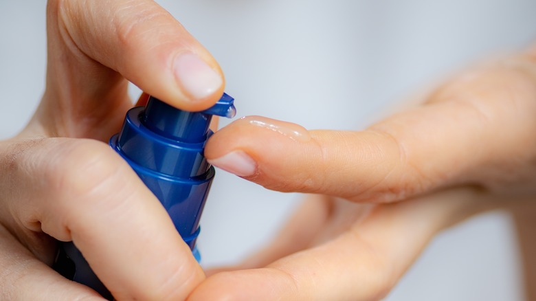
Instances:
[[[221,76],[195,54],[181,54],[173,67],[181,87],[194,98],[210,96],[223,84]]]

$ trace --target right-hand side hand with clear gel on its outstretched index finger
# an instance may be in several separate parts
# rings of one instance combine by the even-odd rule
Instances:
[[[377,300],[438,231],[482,210],[532,206],[535,66],[523,54],[477,67],[366,131],[249,117],[213,135],[212,164],[270,189],[320,195],[192,300]]]

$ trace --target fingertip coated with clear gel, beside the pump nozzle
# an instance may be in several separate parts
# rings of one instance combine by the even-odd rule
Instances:
[[[306,177],[309,168],[304,168],[304,159],[317,156],[311,140],[309,132],[298,124],[247,116],[212,135],[205,157],[210,164],[267,188],[293,189],[283,182]],[[298,154],[302,159],[296,159]]]

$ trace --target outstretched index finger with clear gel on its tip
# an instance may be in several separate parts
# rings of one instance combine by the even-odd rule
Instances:
[[[392,139],[372,131],[306,131],[252,116],[214,134],[205,157],[269,189],[357,197],[396,168],[400,155]]]

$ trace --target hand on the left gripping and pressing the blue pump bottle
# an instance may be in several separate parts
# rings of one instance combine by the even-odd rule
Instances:
[[[43,100],[0,143],[0,299],[100,299],[49,266],[74,241],[119,300],[181,300],[204,279],[168,214],[107,144],[127,81],[176,107],[223,93],[214,58],[153,1],[49,1]],[[82,139],[91,138],[91,139]]]

